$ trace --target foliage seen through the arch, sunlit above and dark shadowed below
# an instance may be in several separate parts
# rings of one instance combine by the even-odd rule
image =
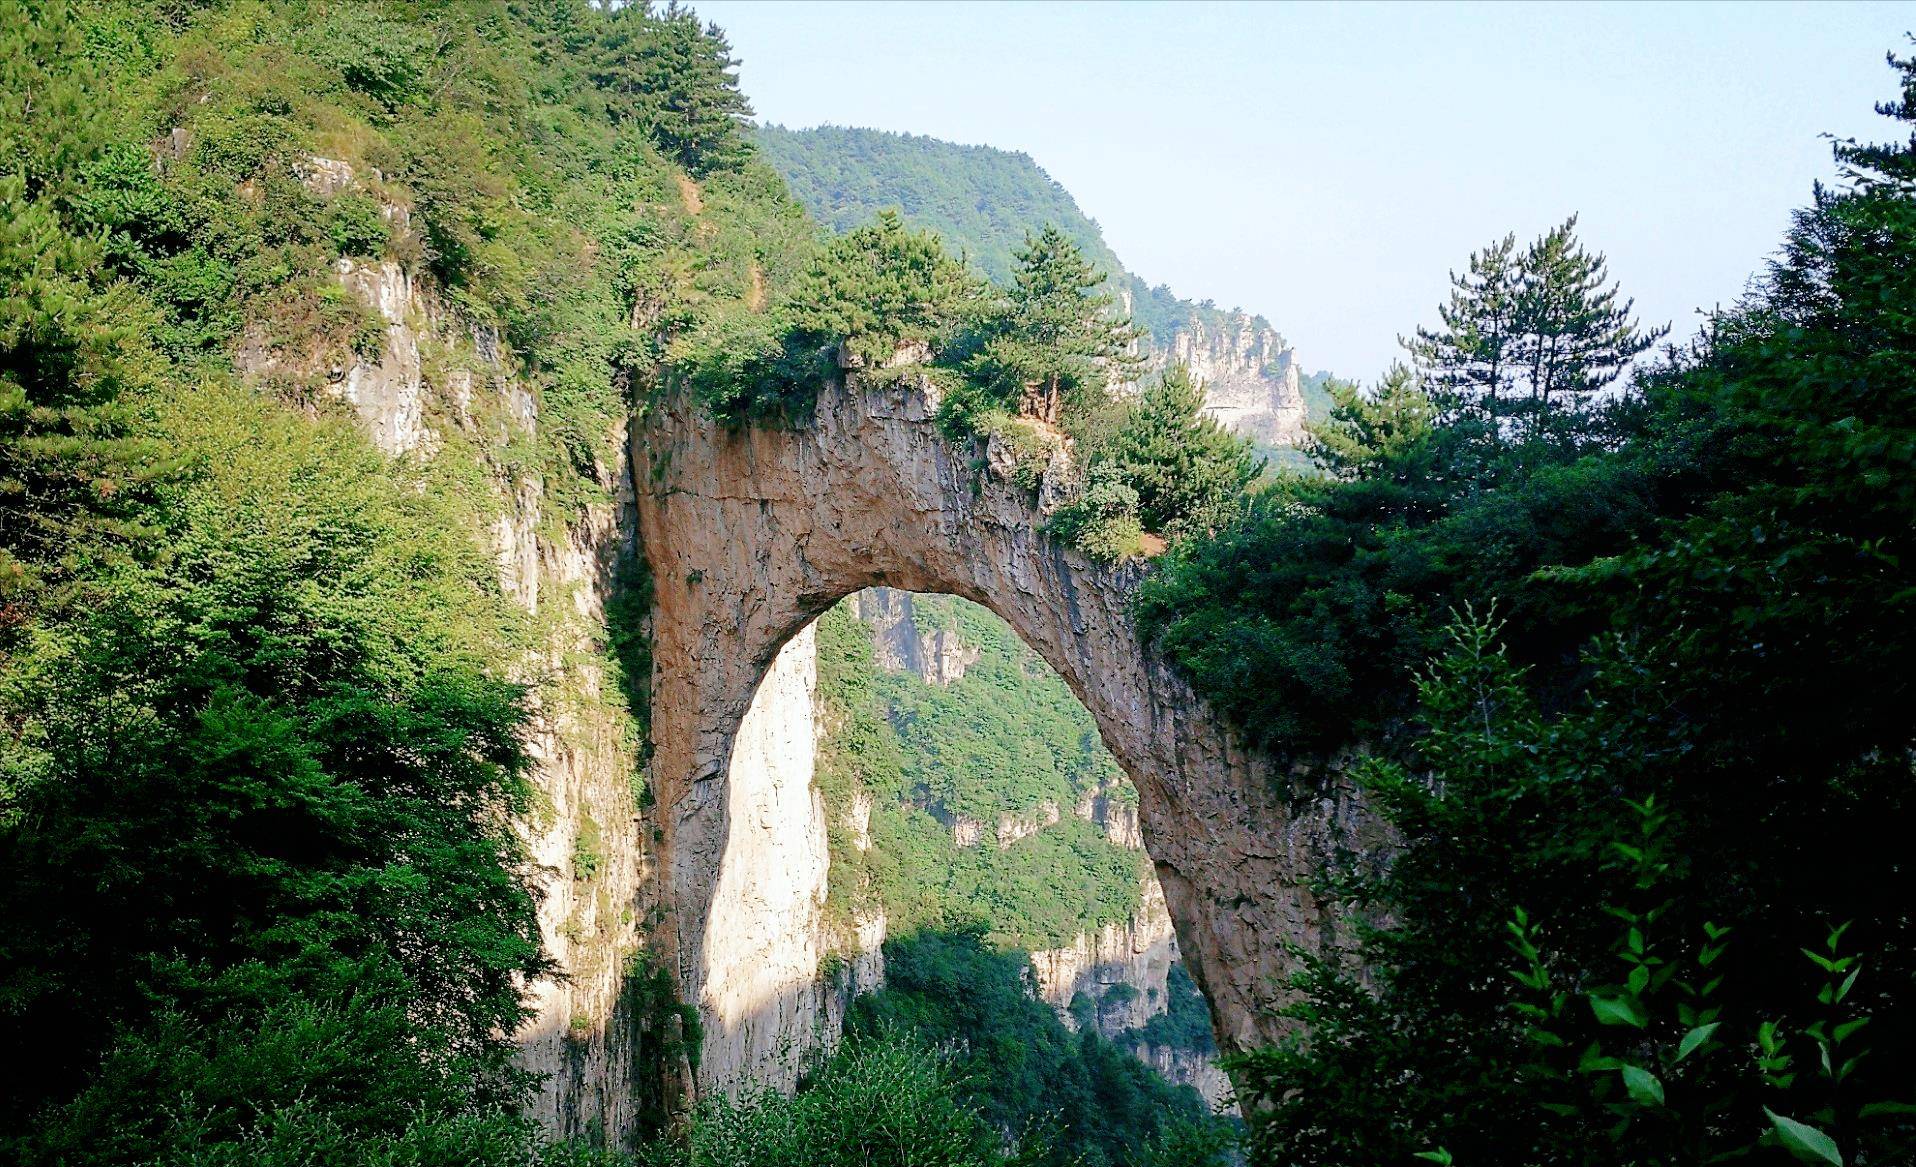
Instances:
[[[1025,949],[1136,914],[1142,857],[1073,814],[1092,795],[1136,793],[1063,680],[998,617],[948,596],[912,596],[912,617],[901,630],[977,650],[962,678],[939,686],[879,669],[851,602],[818,621],[830,903],[841,926],[883,910],[895,937],[885,989],[856,1000],[849,1033],[950,1046],[962,1098],[994,1129],[1042,1134],[1021,1144],[1029,1161],[1220,1161],[1230,1131],[1129,1054],[1140,1042],[1211,1048],[1211,1014],[1182,968],[1167,1002],[1176,1018],[1117,1042],[1098,1025],[1073,1035],[1033,989]],[[860,793],[872,799],[868,834],[853,837],[847,812]],[[1061,811],[1058,822],[1046,824],[1046,807]],[[994,845],[1000,816],[1033,834]],[[985,837],[958,847],[960,822]]]

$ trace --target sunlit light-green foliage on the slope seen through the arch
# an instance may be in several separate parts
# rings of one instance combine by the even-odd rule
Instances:
[[[841,918],[883,908],[895,933],[989,920],[1006,945],[1046,949],[1127,920],[1142,857],[1071,811],[1083,797],[1136,799],[1063,680],[989,611],[916,596],[927,629],[977,650],[962,678],[927,684],[876,665],[872,632],[849,604],[818,621],[818,701],[830,726],[818,786],[833,807],[832,904]],[[845,809],[872,799],[870,847]],[[996,847],[1000,816],[1044,826]],[[958,847],[954,824],[985,843]]]

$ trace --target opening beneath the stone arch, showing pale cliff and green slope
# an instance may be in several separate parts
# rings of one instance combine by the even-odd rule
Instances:
[[[795,1085],[853,998],[883,987],[887,941],[947,943],[924,914],[935,901],[1023,950],[1065,1025],[1226,1100],[1209,1048],[1144,1029],[1173,1008],[1209,1025],[1209,1008],[1146,860],[1136,791],[1088,709],[989,609],[893,588],[832,606],[761,678],[722,797],[701,1090]],[[1029,895],[1037,872],[1084,897]]]

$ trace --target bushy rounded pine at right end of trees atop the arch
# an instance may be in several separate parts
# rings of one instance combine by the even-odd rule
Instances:
[[[1201,410],[1203,387],[1186,366],[1173,364],[1117,431],[1111,460],[1138,492],[1146,531],[1213,527],[1257,477],[1251,443]]]

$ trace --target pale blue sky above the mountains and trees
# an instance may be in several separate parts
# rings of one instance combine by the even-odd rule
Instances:
[[[1734,299],[1916,4],[705,0],[759,117],[1031,153],[1119,257],[1374,378],[1473,247],[1583,215],[1648,320]]]

